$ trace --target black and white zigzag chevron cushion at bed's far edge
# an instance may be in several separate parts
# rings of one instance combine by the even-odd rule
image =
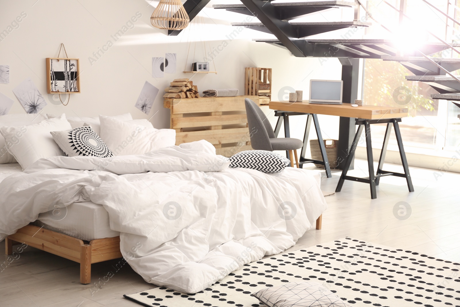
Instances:
[[[279,173],[290,161],[271,151],[241,151],[230,157],[230,168],[252,168],[264,173]]]

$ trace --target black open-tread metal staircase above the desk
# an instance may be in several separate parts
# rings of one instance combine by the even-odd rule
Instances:
[[[426,0],[423,1],[426,2]],[[401,51],[393,41],[389,40],[348,39],[346,34],[342,35],[345,39],[309,38],[312,35],[337,29],[370,26],[371,23],[358,21],[359,1],[358,3],[338,0],[272,3],[263,0],[241,0],[241,2],[242,4],[214,5],[213,7],[253,15],[260,22],[232,23],[232,25],[270,33],[276,37],[254,39],[254,41],[286,48],[297,57],[381,58],[385,61],[396,61],[414,73],[413,76],[407,76],[407,80],[426,82],[439,92],[439,94],[432,94],[431,98],[460,101],[460,76],[452,75],[452,72],[460,69],[460,58],[427,57],[427,55],[452,47],[459,47],[460,44],[446,43],[442,40],[437,43],[430,42],[418,46],[411,52],[404,51],[404,56],[400,56]],[[355,20],[321,23],[291,22],[299,17],[339,8],[355,8]],[[455,104],[460,107],[459,103]]]

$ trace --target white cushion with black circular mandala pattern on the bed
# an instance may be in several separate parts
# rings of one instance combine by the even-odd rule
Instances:
[[[113,156],[109,147],[92,130],[91,126],[72,130],[53,131],[51,135],[67,156]]]

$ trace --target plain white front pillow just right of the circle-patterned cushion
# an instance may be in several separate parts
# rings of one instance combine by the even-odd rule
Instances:
[[[99,118],[99,135],[114,156],[143,155],[176,144],[176,130],[145,127],[139,123],[123,122],[108,116]]]

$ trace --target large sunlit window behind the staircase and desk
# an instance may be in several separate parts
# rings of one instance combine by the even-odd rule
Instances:
[[[402,48],[416,48],[421,41],[460,42],[458,24],[437,12],[425,0],[386,0],[394,8],[403,9],[405,14],[391,8],[384,1],[368,0],[367,7],[372,16],[389,29],[398,29],[394,34],[385,30],[385,37],[392,38]],[[428,1],[428,0],[427,0]],[[430,3],[451,17],[459,19],[460,8],[453,0],[429,0]],[[457,0],[455,0],[457,1]],[[374,29],[374,28],[379,29]],[[428,28],[433,34],[424,31]],[[376,38],[383,35],[382,27],[374,23],[368,35]],[[381,37],[381,36],[380,36]],[[432,57],[459,58],[456,52],[446,50],[431,54]],[[454,75],[458,74],[454,72]],[[407,81],[406,75],[413,75],[402,64],[380,59],[366,59],[363,71],[363,103],[371,105],[401,106],[409,109],[409,117],[400,124],[404,145],[409,151],[426,153],[426,150],[452,151],[460,147],[460,108],[450,101],[433,100],[432,93],[438,93],[424,82]],[[409,102],[408,99],[410,99]],[[372,135],[376,146],[380,146],[386,124],[373,125]],[[390,139],[390,145],[397,145]]]

